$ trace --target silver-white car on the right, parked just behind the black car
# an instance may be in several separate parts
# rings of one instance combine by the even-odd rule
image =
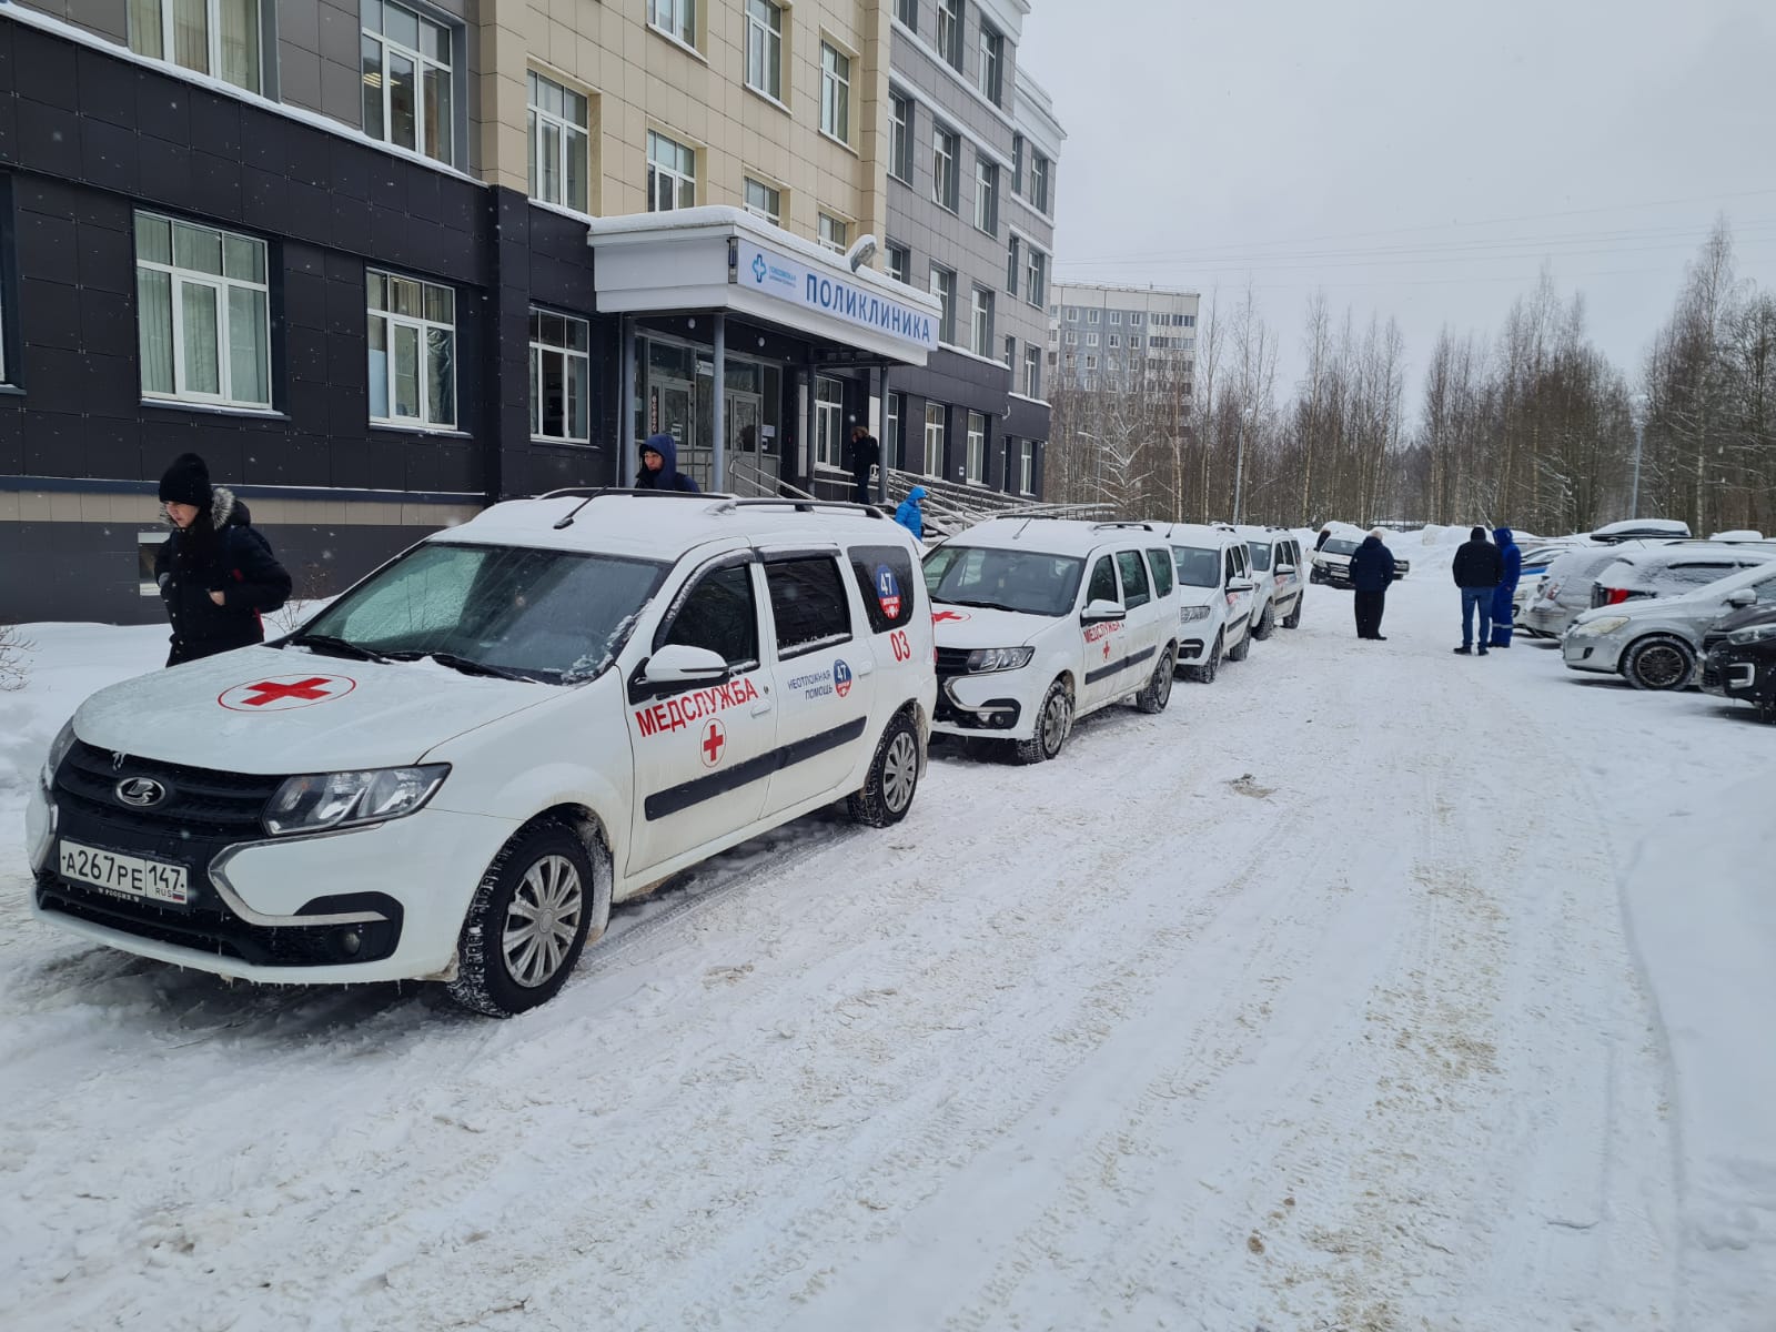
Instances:
[[[1678,597],[1586,611],[1561,636],[1561,655],[1575,671],[1621,673],[1636,689],[1682,689],[1696,673],[1709,627],[1764,604],[1776,604],[1776,563],[1740,568]]]

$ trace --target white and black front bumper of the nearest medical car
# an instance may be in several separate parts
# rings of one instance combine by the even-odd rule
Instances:
[[[243,842],[186,867],[190,904],[82,884],[55,863],[55,810],[39,794],[30,911],[142,957],[242,980],[336,984],[442,979],[487,865],[517,831],[506,819],[421,810],[385,824]],[[107,851],[149,854],[112,838]]]

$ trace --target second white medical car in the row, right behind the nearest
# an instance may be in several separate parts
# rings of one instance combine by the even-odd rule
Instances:
[[[1144,522],[989,519],[925,556],[945,735],[1055,758],[1073,723],[1162,712],[1177,659],[1172,554]]]

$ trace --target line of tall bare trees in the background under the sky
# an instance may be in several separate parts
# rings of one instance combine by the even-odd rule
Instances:
[[[1312,297],[1286,396],[1250,288],[1211,297],[1199,334],[1188,369],[1050,394],[1048,499],[1192,522],[1776,531],[1776,293],[1735,277],[1724,220],[1632,380],[1549,272],[1495,337],[1439,334],[1415,416],[1394,320]]]

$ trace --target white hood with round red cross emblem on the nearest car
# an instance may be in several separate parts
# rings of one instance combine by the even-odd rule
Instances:
[[[101,749],[192,767],[339,773],[419,762],[444,741],[559,693],[433,661],[256,646],[101,689],[80,705],[75,733]]]

